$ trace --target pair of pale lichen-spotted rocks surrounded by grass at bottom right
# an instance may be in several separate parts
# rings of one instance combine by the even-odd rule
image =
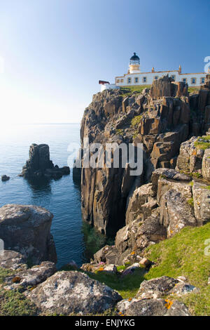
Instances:
[[[199,289],[188,284],[185,277],[162,276],[142,282],[137,295],[120,301],[117,310],[126,316],[190,316],[186,305],[165,297],[192,292],[197,293]]]

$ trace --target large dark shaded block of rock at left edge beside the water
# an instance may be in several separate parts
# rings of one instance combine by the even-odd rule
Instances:
[[[32,263],[57,262],[50,227],[52,213],[39,206],[8,204],[0,209],[0,238],[4,249],[15,250]]]

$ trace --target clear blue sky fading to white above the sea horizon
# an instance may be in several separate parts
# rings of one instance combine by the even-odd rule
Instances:
[[[80,122],[99,79],[204,72],[209,0],[0,0],[0,124]]]

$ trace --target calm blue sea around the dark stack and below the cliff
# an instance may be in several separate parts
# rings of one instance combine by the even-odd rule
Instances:
[[[0,128],[0,175],[10,176],[0,181],[0,207],[5,204],[34,204],[54,214],[51,232],[55,240],[61,267],[74,260],[78,265],[90,260],[92,254],[106,244],[106,238],[83,223],[80,213],[80,190],[70,176],[59,180],[28,182],[18,177],[29,158],[31,143],[47,143],[50,159],[58,166],[72,164],[69,152],[79,144],[79,124],[11,125]],[[71,156],[69,156],[71,154]],[[69,164],[69,166],[70,166]],[[111,244],[112,242],[109,242]]]

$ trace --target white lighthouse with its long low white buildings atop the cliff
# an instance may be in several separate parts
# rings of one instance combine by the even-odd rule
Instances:
[[[174,81],[183,81],[188,84],[189,87],[199,87],[204,84],[205,77],[209,72],[182,73],[181,65],[179,65],[179,70],[155,71],[154,67],[152,67],[151,72],[141,72],[139,56],[134,53],[130,58],[127,74],[116,77],[116,84],[102,84],[101,91],[118,86],[151,85],[154,79],[158,79],[167,74],[169,77],[172,77]]]

